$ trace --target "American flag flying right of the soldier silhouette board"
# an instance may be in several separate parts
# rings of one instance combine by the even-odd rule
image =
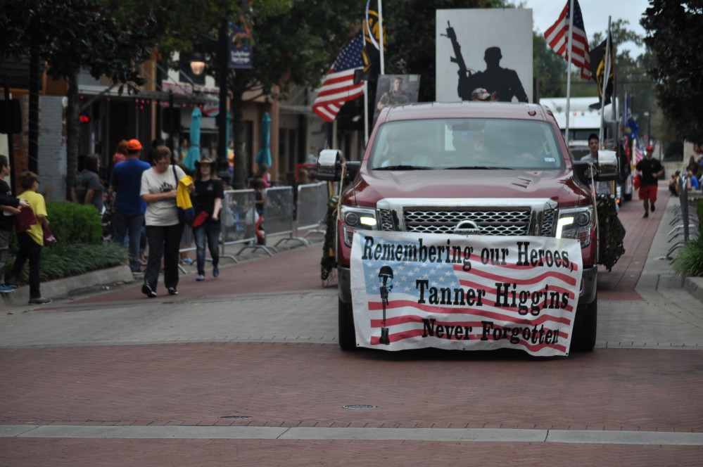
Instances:
[[[567,46],[569,45],[569,17],[571,16],[569,1],[566,0],[566,6],[559,15],[557,22],[545,32],[547,44],[554,49],[564,60],[569,61],[567,56]],[[588,37],[585,34],[583,27],[583,16],[581,15],[581,7],[578,6],[578,0],[574,0],[574,30],[571,39],[571,63],[574,63],[578,68],[581,68],[581,77],[590,79],[590,53],[588,50]]]

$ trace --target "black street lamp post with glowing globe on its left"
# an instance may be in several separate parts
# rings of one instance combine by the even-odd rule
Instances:
[[[222,18],[217,41],[210,37],[206,39],[217,42],[217,80],[220,82],[220,112],[217,113],[217,167],[219,167],[220,177],[229,177],[227,167],[227,71],[229,70],[229,44],[227,43],[227,20]],[[205,71],[205,57],[196,46],[196,50],[191,57],[191,71],[194,75],[200,76]]]

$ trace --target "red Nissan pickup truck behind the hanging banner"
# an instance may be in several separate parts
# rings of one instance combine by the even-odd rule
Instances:
[[[352,245],[355,233],[369,231],[578,240],[583,267],[570,350],[593,350],[599,242],[587,179],[615,179],[617,160],[612,151],[601,151],[595,166],[574,161],[548,108],[498,102],[386,108],[362,160],[346,162],[339,151],[322,151],[317,177],[345,186],[336,223],[343,350],[361,345],[352,305]],[[384,324],[385,316],[384,305]]]

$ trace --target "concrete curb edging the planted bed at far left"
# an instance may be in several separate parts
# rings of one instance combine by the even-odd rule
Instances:
[[[70,294],[72,290],[77,290],[103,284],[122,282],[130,283],[134,281],[132,271],[127,264],[90,271],[78,276],[65,277],[55,281],[42,282],[42,296],[51,299],[63,298]],[[6,306],[27,305],[30,300],[30,286],[22,286],[13,293],[0,295],[0,302]]]

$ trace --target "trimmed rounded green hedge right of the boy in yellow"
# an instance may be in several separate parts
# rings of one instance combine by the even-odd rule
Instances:
[[[61,243],[103,243],[103,226],[93,205],[78,203],[46,203],[49,229]]]

